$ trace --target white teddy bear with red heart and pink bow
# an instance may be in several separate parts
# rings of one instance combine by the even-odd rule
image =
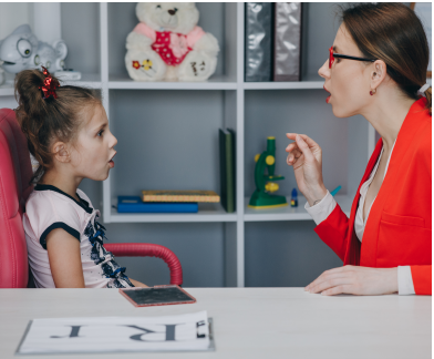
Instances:
[[[217,66],[217,39],[197,27],[194,2],[138,2],[125,65],[137,81],[205,81]]]

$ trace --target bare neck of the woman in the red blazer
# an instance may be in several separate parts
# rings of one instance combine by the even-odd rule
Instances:
[[[380,92],[380,91],[379,91]],[[415,100],[404,98],[394,91],[376,93],[375,101],[362,113],[383,140],[384,151],[389,152],[396,141],[401,126]]]

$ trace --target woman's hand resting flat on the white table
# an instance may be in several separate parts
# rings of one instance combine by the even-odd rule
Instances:
[[[326,270],[304,290],[323,296],[375,296],[397,291],[397,268],[344,266]]]

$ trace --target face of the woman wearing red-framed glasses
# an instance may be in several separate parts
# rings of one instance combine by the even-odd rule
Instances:
[[[333,52],[363,58],[345,27],[341,24],[333,42]],[[329,69],[329,59],[318,71],[326,80],[324,90],[330,93],[327,103],[333,109],[337,117],[349,117],[363,112],[371,103],[371,73],[373,65],[370,62],[348,59],[334,59]]]

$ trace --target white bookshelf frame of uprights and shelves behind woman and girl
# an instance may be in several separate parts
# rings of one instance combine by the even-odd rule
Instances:
[[[227,243],[226,256],[226,283],[230,286],[245,286],[245,225],[251,222],[275,222],[275,220],[311,220],[303,209],[303,199],[300,198],[298,208],[285,207],[271,211],[256,211],[247,207],[248,196],[245,195],[246,177],[245,176],[245,141],[246,126],[245,119],[246,96],[250,91],[309,91],[321,90],[323,81],[316,74],[306,76],[301,82],[260,82],[249,83],[244,81],[244,3],[226,3],[225,4],[225,42],[220,43],[225,52],[225,73],[216,74],[207,82],[183,83],[183,82],[135,82],[125,73],[110,72],[110,29],[107,20],[111,4],[100,4],[100,32],[101,32],[101,88],[103,98],[105,99],[105,109],[108,113],[111,122],[121,121],[112,116],[111,98],[113,91],[142,91],[147,94],[158,91],[218,91],[223,92],[224,113],[221,126],[232,127],[237,133],[237,212],[227,214],[220,205],[204,207],[200,205],[198,214],[118,214],[112,208],[115,203],[114,193],[116,193],[112,175],[103,184],[104,201],[104,222],[105,223],[198,223],[198,222],[220,222],[227,223],[225,230],[225,240]],[[132,24],[133,27],[133,24]],[[236,37],[229,34],[236,33]],[[324,53],[324,58],[327,53]],[[290,95],[290,94],[289,94]],[[115,126],[116,127],[116,126]],[[116,131],[114,131],[116,135]],[[365,161],[368,161],[369,152],[373,150],[372,143],[374,133],[368,132],[364,139],[365,143],[370,143]],[[266,135],[264,136],[266,139]],[[279,161],[285,162],[285,153],[279,153]],[[217,165],[217,163],[216,163]],[[116,168],[115,168],[116,170]],[[252,180],[252,174],[249,180]],[[184,189],[184,188],[182,188]],[[353,193],[338,196],[337,199],[345,212],[350,211],[351,198]],[[230,225],[231,224],[231,225]]]

